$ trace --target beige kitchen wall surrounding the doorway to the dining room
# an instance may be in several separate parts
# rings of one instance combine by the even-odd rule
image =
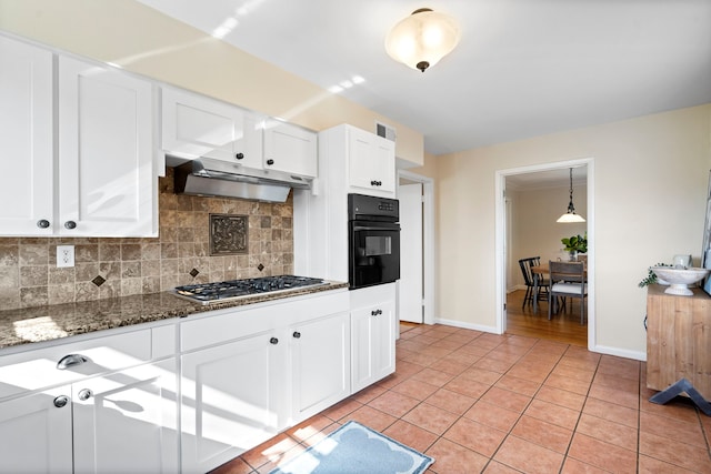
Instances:
[[[699,262],[710,131],[707,104],[438,157],[439,316],[495,326],[497,170],[592,158],[598,349],[643,356],[637,284],[675,253]]]

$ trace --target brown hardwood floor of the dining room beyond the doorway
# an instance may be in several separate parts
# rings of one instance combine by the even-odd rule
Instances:
[[[521,309],[524,295],[525,290],[507,295],[507,334],[588,346],[588,321],[585,319],[585,324],[580,324],[580,300],[569,299],[565,310],[548,321],[548,302],[540,301],[538,313],[534,313],[532,304]]]

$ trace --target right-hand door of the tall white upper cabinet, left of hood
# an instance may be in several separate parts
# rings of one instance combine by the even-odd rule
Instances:
[[[63,235],[157,235],[151,98],[148,81],[59,58]]]

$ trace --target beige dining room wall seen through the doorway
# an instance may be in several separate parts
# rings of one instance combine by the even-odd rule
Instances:
[[[540,256],[541,262],[568,259],[561,239],[571,235],[584,235],[587,222],[560,224],[555,222],[568,209],[570,201],[569,185],[537,190],[510,191],[507,200],[511,202],[511,220],[508,232],[511,233],[509,249],[510,265],[507,274],[508,290],[523,285],[523,275],[519,259]],[[588,186],[573,186],[575,212],[588,215]]]

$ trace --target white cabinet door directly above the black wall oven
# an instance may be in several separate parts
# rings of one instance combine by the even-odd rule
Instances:
[[[357,128],[348,134],[349,182],[354,192],[394,193],[394,143]]]

